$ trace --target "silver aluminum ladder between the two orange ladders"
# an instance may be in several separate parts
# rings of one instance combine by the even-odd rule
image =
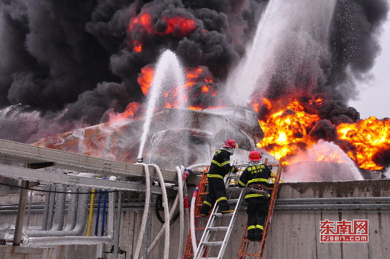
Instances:
[[[242,168],[242,165],[236,166],[236,168]],[[241,169],[240,168],[240,169]],[[242,171],[242,170],[240,170]],[[236,203],[234,206],[234,212],[229,214],[221,214],[218,212],[218,204],[216,203],[214,205],[214,208],[212,209],[211,215],[207,221],[207,224],[205,226],[205,231],[203,232],[202,238],[199,242],[199,245],[196,249],[196,252],[194,253],[194,259],[221,259],[224,255],[227,242],[230,237],[231,230],[233,229],[234,221],[237,218],[238,210],[240,208],[240,204],[244,198],[246,188],[240,188],[238,187],[238,178],[239,175],[234,175],[234,173],[227,174],[226,180],[225,180],[225,187],[226,187],[226,193],[230,192],[229,198],[232,196],[233,193],[239,192],[238,199],[228,199],[227,202],[229,204]],[[231,186],[231,180],[236,179],[233,186]],[[226,196],[228,196],[226,194]],[[217,218],[221,218],[220,224],[224,218],[230,217],[229,224],[227,226],[216,226],[215,222]],[[215,238],[217,237],[218,232],[226,231],[226,234],[222,241],[215,241]],[[209,240],[213,234],[212,240]],[[220,247],[219,251],[215,251],[214,247]],[[214,250],[214,251],[213,251]],[[217,257],[208,257],[208,253],[216,254],[218,252]],[[206,256],[206,257],[204,257]]]

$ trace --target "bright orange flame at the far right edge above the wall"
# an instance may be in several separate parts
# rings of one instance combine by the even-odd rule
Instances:
[[[381,151],[390,150],[390,119],[378,120],[369,117],[354,124],[341,123],[336,128],[339,139],[346,140],[355,147],[347,155],[359,167],[380,170],[382,165],[375,162]]]

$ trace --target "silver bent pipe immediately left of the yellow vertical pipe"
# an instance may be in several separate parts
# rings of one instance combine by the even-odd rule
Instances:
[[[80,191],[85,193],[87,188],[81,188]],[[70,231],[65,230],[48,230],[48,231],[27,231],[29,237],[64,237],[64,236],[78,236],[81,235],[86,225],[86,218],[88,214],[88,196],[89,194],[79,194],[79,202],[77,206],[77,219],[74,229]]]

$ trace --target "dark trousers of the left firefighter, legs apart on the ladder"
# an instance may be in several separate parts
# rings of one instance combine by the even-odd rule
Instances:
[[[208,215],[210,208],[214,206],[215,201],[218,201],[219,210],[229,210],[229,204],[227,203],[225,182],[221,178],[207,178],[208,180],[208,193],[201,208],[201,214]]]

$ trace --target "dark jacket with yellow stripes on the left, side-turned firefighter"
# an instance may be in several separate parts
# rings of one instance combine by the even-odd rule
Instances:
[[[227,173],[235,169],[230,165],[230,153],[224,149],[218,149],[211,160],[207,177],[224,179]]]

